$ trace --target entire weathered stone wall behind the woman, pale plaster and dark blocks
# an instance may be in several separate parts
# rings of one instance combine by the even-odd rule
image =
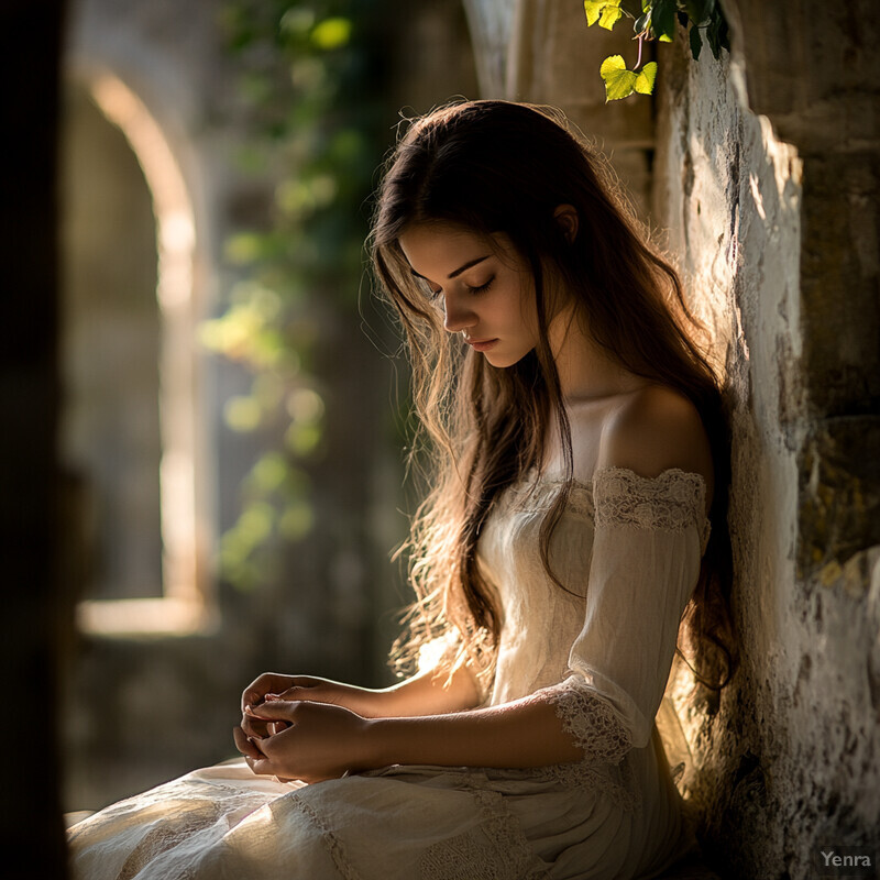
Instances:
[[[880,816],[877,19],[726,2],[734,54],[657,50],[651,101],[604,106],[624,37],[579,3],[466,3],[484,96],[597,134],[666,232],[727,376],[741,668],[710,716],[678,702],[708,859],[811,876]],[[783,8],[784,7],[784,8]],[[564,21],[563,21],[564,20]],[[480,53],[490,57],[480,57]],[[504,72],[502,77],[501,72]],[[595,97],[596,90],[598,97]],[[631,128],[629,128],[631,125]],[[646,151],[648,174],[631,170]],[[623,154],[623,155],[622,155]],[[647,198],[645,194],[647,195]]]

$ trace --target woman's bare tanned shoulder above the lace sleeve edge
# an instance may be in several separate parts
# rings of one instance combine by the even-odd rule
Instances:
[[[627,395],[608,414],[596,466],[627,468],[648,477],[679,468],[701,474],[707,497],[712,494],[712,449],[700,413],[683,394],[662,385]]]

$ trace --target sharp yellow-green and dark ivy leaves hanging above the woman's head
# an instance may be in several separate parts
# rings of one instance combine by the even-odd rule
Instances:
[[[716,61],[722,50],[729,50],[727,21],[718,0],[584,0],[586,24],[598,24],[607,31],[625,15],[632,20],[638,42],[638,58],[634,69],[628,69],[620,55],[612,55],[602,63],[600,76],[605,82],[605,100],[617,101],[634,92],[651,95],[657,78],[657,63],[642,65],[646,41],[670,43],[680,24],[688,31],[688,41],[694,59],[700,58],[703,40],[708,43]]]

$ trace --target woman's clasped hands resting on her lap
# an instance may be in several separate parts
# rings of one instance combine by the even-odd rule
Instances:
[[[336,704],[344,691],[322,679],[256,679],[242,694],[242,722],[233,730],[254,773],[311,783],[365,769],[370,722]]]

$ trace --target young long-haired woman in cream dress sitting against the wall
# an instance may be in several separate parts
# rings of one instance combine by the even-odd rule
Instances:
[[[601,167],[524,105],[409,127],[372,246],[435,458],[396,650],[419,671],[261,675],[243,761],[75,826],[78,877],[623,880],[693,845],[654,715],[679,641],[705,683],[732,669],[726,433]]]

